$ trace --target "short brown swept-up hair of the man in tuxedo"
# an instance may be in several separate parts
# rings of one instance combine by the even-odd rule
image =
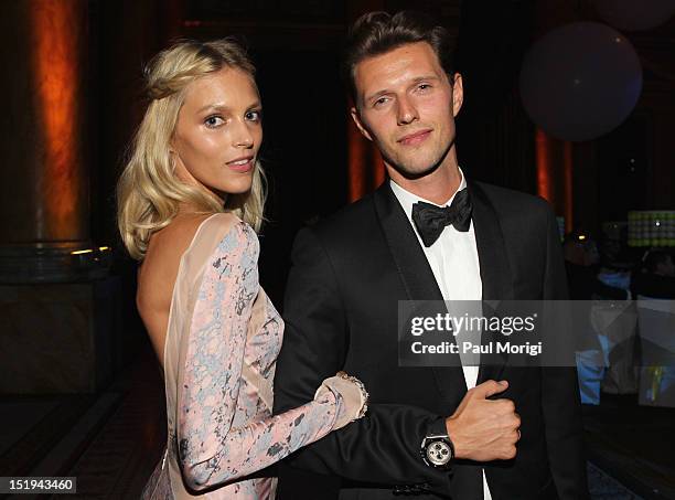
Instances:
[[[449,77],[454,73],[450,34],[443,26],[437,25],[431,17],[414,11],[400,11],[394,15],[377,11],[358,18],[347,33],[342,67],[354,102],[357,97],[354,83],[356,64],[417,42],[431,45]]]

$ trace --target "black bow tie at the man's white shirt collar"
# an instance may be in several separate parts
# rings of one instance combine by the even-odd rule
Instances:
[[[419,201],[413,205],[413,222],[425,246],[433,245],[443,228],[452,224],[457,231],[465,233],[471,225],[471,199],[469,191],[459,191],[450,206],[436,206]]]

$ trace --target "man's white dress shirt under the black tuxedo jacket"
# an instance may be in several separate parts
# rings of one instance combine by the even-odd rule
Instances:
[[[460,175],[462,181],[458,190],[440,206],[449,206],[457,192],[467,188],[467,180],[462,169],[460,169]],[[426,247],[413,223],[413,205],[419,201],[435,205],[436,203],[406,191],[393,180],[389,180],[389,184],[403,206],[408,221],[413,225],[413,230],[427,256],[443,300],[482,300],[483,284],[481,281],[481,267],[475,244],[475,233],[473,232],[473,221],[469,225],[469,231],[464,233],[457,231],[452,225],[446,226],[440,237],[431,246]],[[462,371],[464,372],[467,389],[475,387],[479,366],[462,366]],[[492,500],[484,470],[483,493],[485,500]]]

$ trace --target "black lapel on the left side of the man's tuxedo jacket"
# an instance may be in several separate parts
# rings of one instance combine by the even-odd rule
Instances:
[[[392,257],[406,289],[408,300],[443,300],[433,272],[422,251],[415,230],[405,214],[388,181],[385,181],[374,193],[377,216],[382,224],[385,240]],[[449,354],[450,355],[450,354]],[[456,366],[436,366],[431,370],[439,392],[447,398],[458,395],[458,384],[467,392],[467,383],[457,357]]]

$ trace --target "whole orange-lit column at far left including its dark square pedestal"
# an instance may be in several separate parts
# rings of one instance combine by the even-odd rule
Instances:
[[[94,392],[118,364],[119,281],[89,236],[88,8],[0,2],[0,394]]]

